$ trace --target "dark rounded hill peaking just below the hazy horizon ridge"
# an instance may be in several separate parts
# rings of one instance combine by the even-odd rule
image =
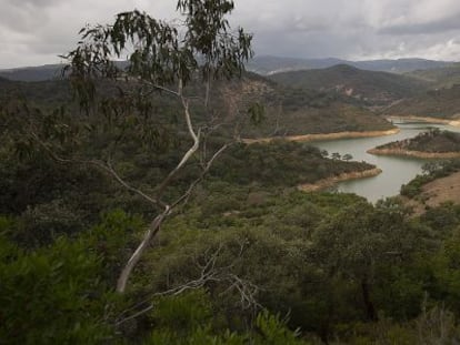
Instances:
[[[388,72],[364,71],[347,64],[274,73],[269,78],[287,87],[336,91],[371,104],[388,104],[413,97],[429,85],[420,79]]]

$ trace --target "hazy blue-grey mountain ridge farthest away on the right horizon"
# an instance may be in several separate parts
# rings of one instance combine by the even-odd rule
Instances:
[[[404,73],[416,70],[444,68],[452,62],[433,61],[424,59],[398,59],[398,60],[367,60],[348,61],[334,58],[328,59],[293,59],[279,57],[256,57],[248,64],[248,69],[259,74],[270,75],[278,72],[324,69],[336,64],[348,64],[361,70]]]

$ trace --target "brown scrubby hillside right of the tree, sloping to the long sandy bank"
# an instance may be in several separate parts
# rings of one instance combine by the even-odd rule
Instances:
[[[246,138],[392,129],[354,98],[337,92],[284,87],[254,73],[248,73],[239,82],[226,83],[223,89],[226,99],[236,99],[240,104],[264,104],[264,121],[248,126]]]

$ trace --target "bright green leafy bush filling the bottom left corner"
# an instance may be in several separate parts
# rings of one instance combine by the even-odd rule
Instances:
[[[82,241],[59,239],[30,253],[2,235],[0,338],[14,344],[96,343],[110,337],[112,298],[101,262]]]

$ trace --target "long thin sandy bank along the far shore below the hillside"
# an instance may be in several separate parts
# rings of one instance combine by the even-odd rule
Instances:
[[[337,133],[324,133],[324,134],[303,134],[303,135],[286,135],[286,136],[270,136],[270,138],[258,138],[258,139],[241,139],[243,143],[269,143],[273,140],[287,140],[296,142],[309,142],[309,141],[321,141],[321,140],[334,140],[334,139],[356,139],[356,138],[372,138],[372,136],[384,136],[399,133],[399,128],[387,130],[387,131],[366,131],[366,132],[337,132]]]

